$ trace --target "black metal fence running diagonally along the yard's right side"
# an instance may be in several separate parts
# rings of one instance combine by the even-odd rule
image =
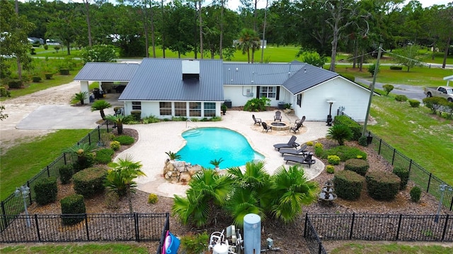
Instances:
[[[442,205],[452,211],[453,191],[449,191],[453,188],[452,186],[449,186],[449,184],[433,175],[430,171],[423,169],[423,167],[412,159],[406,157],[406,155],[403,155],[394,147],[391,147],[391,145],[382,140],[382,138],[379,138],[371,132],[369,132],[368,135],[372,136],[372,145],[379,155],[394,167],[408,169],[409,180],[420,186],[423,191],[433,195],[437,200],[442,201]],[[445,186],[443,193],[440,188],[442,185]]]

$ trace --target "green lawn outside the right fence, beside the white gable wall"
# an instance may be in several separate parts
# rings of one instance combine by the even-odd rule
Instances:
[[[453,186],[452,120],[430,114],[426,107],[413,108],[394,96],[374,97],[370,115],[377,121],[369,131]]]

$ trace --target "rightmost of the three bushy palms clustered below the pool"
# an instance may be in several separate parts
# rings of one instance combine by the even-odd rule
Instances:
[[[272,212],[285,223],[294,222],[302,212],[302,205],[309,205],[316,200],[317,184],[308,181],[304,170],[297,165],[289,169],[279,167],[272,177],[272,183]]]

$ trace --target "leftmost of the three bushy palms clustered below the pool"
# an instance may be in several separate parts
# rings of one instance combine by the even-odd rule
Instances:
[[[205,226],[208,219],[214,219],[212,210],[225,204],[232,183],[231,176],[219,176],[214,170],[203,169],[189,181],[187,198],[175,195],[171,211],[183,224]]]

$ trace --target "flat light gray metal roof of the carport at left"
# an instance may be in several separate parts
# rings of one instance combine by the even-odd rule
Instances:
[[[74,80],[129,81],[138,63],[86,63]]]

